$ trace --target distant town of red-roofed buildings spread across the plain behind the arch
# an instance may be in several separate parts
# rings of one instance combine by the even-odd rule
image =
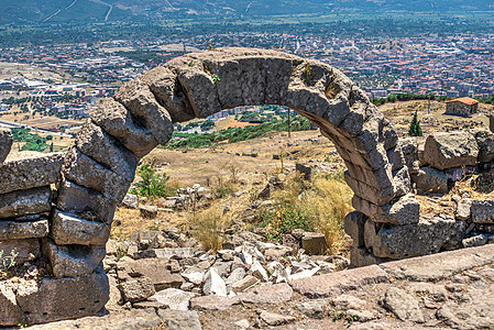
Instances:
[[[152,67],[184,53],[222,46],[272,48],[320,59],[350,76],[370,98],[494,95],[492,35],[365,40],[234,33],[1,48],[0,120],[8,111],[83,119],[101,98]],[[48,129],[63,130],[64,124]]]

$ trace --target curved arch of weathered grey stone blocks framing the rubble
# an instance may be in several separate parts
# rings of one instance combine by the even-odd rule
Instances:
[[[374,222],[396,222],[389,210],[410,190],[408,170],[395,130],[361,89],[318,61],[218,48],[184,55],[135,78],[85,122],[65,155],[44,241],[53,275],[101,273],[117,204],[140,157],[165,144],[174,123],[255,105],[287,106],[317,124],[347,164],[354,208]],[[103,293],[84,314],[96,312],[107,299]]]

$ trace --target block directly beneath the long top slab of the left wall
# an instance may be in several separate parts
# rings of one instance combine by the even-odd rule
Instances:
[[[51,209],[50,186],[17,190],[0,196],[0,219],[50,212]]]

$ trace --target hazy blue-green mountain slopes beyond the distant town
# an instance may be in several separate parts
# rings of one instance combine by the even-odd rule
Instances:
[[[375,11],[490,11],[487,0],[0,0],[0,24],[250,18]]]

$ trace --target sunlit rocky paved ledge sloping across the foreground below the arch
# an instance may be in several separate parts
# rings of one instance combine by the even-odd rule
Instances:
[[[493,329],[494,244],[32,329]]]

